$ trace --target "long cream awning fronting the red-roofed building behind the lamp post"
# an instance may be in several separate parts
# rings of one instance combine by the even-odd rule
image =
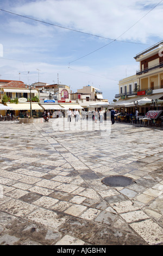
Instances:
[[[13,110],[30,110],[30,102],[25,103],[7,103],[8,107],[11,107]],[[42,107],[39,103],[32,103],[32,110],[42,110]]]

